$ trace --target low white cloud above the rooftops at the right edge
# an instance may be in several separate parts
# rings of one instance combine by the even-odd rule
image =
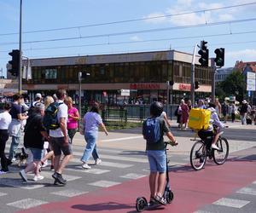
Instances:
[[[238,51],[227,51],[225,56],[229,60],[254,61],[256,58],[256,49],[241,49]]]

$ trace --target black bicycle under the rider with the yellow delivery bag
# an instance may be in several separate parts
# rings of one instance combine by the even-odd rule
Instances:
[[[224,132],[221,133],[221,135]],[[212,149],[213,137],[208,137],[204,140],[195,142],[190,151],[190,164],[194,170],[201,170],[209,159],[213,158],[215,164],[224,164],[229,155],[229,142],[226,138],[219,135],[216,143],[217,149]]]

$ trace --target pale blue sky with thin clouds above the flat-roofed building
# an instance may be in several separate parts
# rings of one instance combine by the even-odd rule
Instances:
[[[29,58],[100,55],[170,48],[192,53],[195,43],[200,43],[204,39],[208,42],[211,57],[214,57],[214,49],[225,48],[225,67],[234,66],[236,60],[256,60],[256,39],[254,38],[256,20],[234,22],[234,20],[256,19],[256,0],[23,0],[23,32],[134,20],[254,2],[255,4],[242,7],[153,20],[75,27],[62,31],[24,33],[23,42],[102,34],[106,36],[55,42],[23,43],[23,53]],[[3,34],[19,32],[20,0],[0,0],[0,11],[0,69],[3,67],[5,72],[6,63],[10,60],[8,53],[11,49],[19,48],[19,35]],[[211,23],[223,21],[233,22],[210,26]],[[119,32],[191,26],[206,24],[206,22],[207,25],[201,27],[108,36],[108,34]],[[230,33],[231,35],[227,35]],[[219,34],[224,35],[219,36]],[[162,41],[145,42],[159,39]],[[7,45],[6,43],[14,44]]]

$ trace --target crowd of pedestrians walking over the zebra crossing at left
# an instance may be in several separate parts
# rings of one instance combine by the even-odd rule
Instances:
[[[52,113],[49,117],[50,109],[53,107],[56,107],[55,114]],[[27,181],[28,172],[34,174],[33,181],[43,180],[44,176],[41,176],[40,172],[42,167],[48,165],[50,159],[50,170],[54,170],[52,177],[55,184],[65,185],[67,180],[63,178],[62,173],[73,157],[72,141],[79,129],[79,120],[84,124],[84,140],[87,143],[81,157],[81,166],[90,169],[88,160],[91,155],[96,164],[102,162],[96,148],[98,127],[102,127],[108,135],[97,103],[94,103],[90,112],[81,119],[78,109],[73,107],[73,100],[67,96],[65,89],[56,90],[55,95],[46,96],[44,100],[38,93],[29,107],[24,107],[22,95],[14,95],[13,102],[5,103],[4,110],[0,113],[0,175],[8,172],[9,165],[17,160],[16,151],[21,146],[25,147],[28,153],[26,168],[19,172],[23,181]],[[22,132],[24,138],[20,140]],[[9,158],[6,158],[5,147],[9,136],[12,140]],[[23,144],[20,144],[20,141],[24,141]]]

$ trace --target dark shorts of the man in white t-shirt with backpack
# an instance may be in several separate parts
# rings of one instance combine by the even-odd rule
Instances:
[[[70,155],[73,153],[69,138],[68,144],[64,143],[64,137],[50,137],[49,141],[51,147],[53,148],[55,156],[61,155],[61,151],[64,155]]]

